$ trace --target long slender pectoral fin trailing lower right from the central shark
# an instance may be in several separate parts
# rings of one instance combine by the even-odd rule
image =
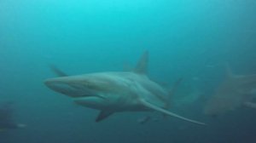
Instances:
[[[154,111],[157,111],[157,112],[161,112],[161,113],[164,113],[166,115],[169,115],[169,116],[172,116],[172,117],[177,117],[179,119],[182,119],[184,121],[187,121],[187,122],[190,122],[190,123],[196,123],[196,124],[200,124],[200,125],[206,125],[206,123],[201,123],[201,122],[198,122],[198,121],[195,121],[195,120],[192,120],[192,119],[189,119],[189,118],[186,118],[186,117],[182,117],[182,116],[179,116],[173,112],[169,112],[165,109],[162,109],[160,108],[159,106],[154,106],[153,104],[151,103],[148,103],[146,100],[140,100],[141,103],[143,104],[143,106],[146,106],[148,107],[149,109],[152,109]]]

